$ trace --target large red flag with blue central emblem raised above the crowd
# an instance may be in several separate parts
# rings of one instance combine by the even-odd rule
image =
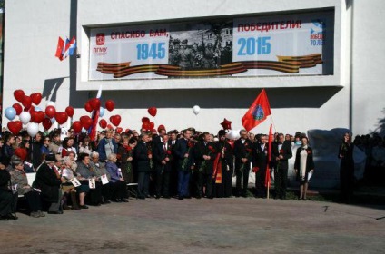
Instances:
[[[263,122],[268,115],[271,115],[269,100],[264,89],[257,96],[249,110],[242,117],[242,125],[246,131],[252,130]]]

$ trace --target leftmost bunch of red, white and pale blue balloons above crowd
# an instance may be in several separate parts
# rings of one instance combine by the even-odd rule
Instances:
[[[23,125],[26,125],[28,134],[35,137],[39,131],[40,123],[43,124],[45,130],[48,130],[53,122],[57,121],[59,124],[63,124],[67,122],[68,117],[74,115],[74,108],[72,107],[67,107],[65,112],[56,112],[53,102],[48,103],[43,111],[37,106],[42,101],[41,93],[32,93],[28,96],[23,90],[18,89],[15,90],[14,97],[18,103],[5,109],[5,117],[10,121],[7,127],[13,134],[20,132]],[[19,117],[19,121],[13,121],[16,115]]]

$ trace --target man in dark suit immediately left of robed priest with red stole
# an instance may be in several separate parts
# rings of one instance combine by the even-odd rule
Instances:
[[[205,195],[212,199],[212,171],[213,161],[217,151],[215,151],[214,144],[210,142],[211,134],[209,132],[203,133],[203,141],[199,142],[194,147],[194,161],[195,161],[195,187],[196,198],[201,199],[203,196],[203,185],[206,186]]]

